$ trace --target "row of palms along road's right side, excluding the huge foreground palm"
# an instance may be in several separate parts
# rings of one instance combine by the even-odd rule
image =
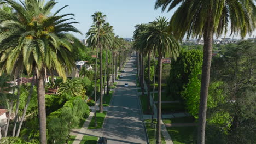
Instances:
[[[162,57],[165,53],[169,53],[174,59],[177,58],[180,49],[179,43],[174,39],[173,35],[168,33],[168,19],[165,17],[158,17],[153,22],[148,24],[136,25],[133,37],[135,38],[134,47],[137,50],[138,59],[140,60],[140,85],[142,93],[144,94],[144,65],[143,56],[148,55],[148,110],[150,110],[150,57],[151,53],[158,55],[158,121],[157,121],[157,142],[161,143],[161,83],[162,83]],[[155,64],[154,64],[155,65]],[[155,68],[154,68],[155,69]],[[156,70],[154,70],[155,72]],[[155,74],[154,74],[154,87],[155,87]],[[154,90],[153,90],[154,91]],[[153,92],[154,94],[154,92]],[[154,96],[153,96],[154,97]],[[154,115],[154,114],[152,114]],[[152,123],[153,119],[152,119]]]

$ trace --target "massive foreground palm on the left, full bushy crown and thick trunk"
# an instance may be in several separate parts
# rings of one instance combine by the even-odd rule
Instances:
[[[72,18],[64,18],[73,14],[57,15],[67,6],[52,12],[55,1],[5,2],[14,9],[14,13],[0,10],[1,26],[5,29],[0,33],[1,49],[5,53],[1,55],[0,63],[5,63],[9,74],[20,62],[26,65],[28,74],[35,70],[40,143],[46,143],[45,74],[46,71],[56,70],[66,80],[66,72],[71,73],[75,68],[74,52],[83,46],[68,32],[80,32],[72,26],[77,22],[67,22]]]

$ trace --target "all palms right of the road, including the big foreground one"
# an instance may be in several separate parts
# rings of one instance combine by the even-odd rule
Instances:
[[[201,77],[199,127],[197,143],[205,143],[205,126],[207,97],[210,82],[210,68],[212,59],[212,46],[214,35],[221,37],[228,30],[230,35],[252,34],[256,26],[256,7],[253,0],[156,0],[155,9],[162,11],[177,10],[172,15],[170,22],[164,17],[159,17],[148,25],[136,25],[135,49],[138,53],[138,75],[143,88],[143,55],[158,54],[158,136],[157,143],[161,143],[161,65],[162,57],[168,50],[174,59],[178,56],[179,45],[177,40],[182,40],[185,35],[189,38],[203,38],[203,65]],[[230,28],[230,29],[228,29]],[[150,60],[150,58],[148,59]],[[149,61],[150,67],[150,61]],[[140,72],[139,72],[140,71]],[[149,71],[150,72],[150,71]],[[150,81],[150,80],[149,80]],[[143,92],[144,89],[142,89]],[[149,97],[149,94],[148,94]]]

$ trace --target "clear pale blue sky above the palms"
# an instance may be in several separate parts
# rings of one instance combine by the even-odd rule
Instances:
[[[83,33],[83,35],[74,34],[79,39],[85,38],[85,33],[92,25],[91,15],[96,11],[106,14],[106,21],[113,26],[115,35],[123,38],[132,38],[136,24],[148,23],[158,16],[166,16],[170,19],[175,11],[173,9],[168,13],[162,13],[161,9],[155,10],[156,0],[56,0],[56,2],[58,3],[54,11],[69,5],[60,14],[75,14],[75,21],[80,23],[75,27]],[[255,32],[253,34],[256,35]]]

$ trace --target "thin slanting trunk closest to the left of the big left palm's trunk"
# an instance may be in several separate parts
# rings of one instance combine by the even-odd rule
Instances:
[[[19,128],[17,130],[16,137],[19,137],[20,129],[21,129],[22,123],[24,121],[24,118],[26,116],[27,107],[28,107],[28,104],[30,103],[30,100],[31,100],[31,95],[32,95],[32,92],[33,92],[33,87],[34,87],[34,74],[33,74],[33,79],[32,79],[32,82],[31,82],[30,92],[29,92],[28,98],[27,98],[27,103],[25,105],[25,108],[24,108],[24,111],[23,111],[23,114],[22,114],[22,117],[21,117],[21,120],[20,120],[20,124],[19,124]]]

